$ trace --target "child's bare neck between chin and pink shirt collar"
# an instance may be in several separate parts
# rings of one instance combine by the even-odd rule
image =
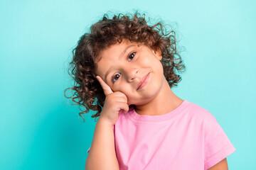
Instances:
[[[173,111],[183,102],[171,91],[166,79],[164,80],[159,94],[152,101],[141,106],[135,106],[136,113],[139,115],[163,115]]]

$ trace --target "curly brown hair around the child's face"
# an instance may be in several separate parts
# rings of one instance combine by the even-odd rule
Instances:
[[[145,14],[138,12],[124,15],[119,13],[109,18],[105,13],[102,20],[90,27],[90,32],[85,33],[78,40],[78,45],[73,49],[73,60],[70,62],[68,74],[75,80],[72,98],[76,104],[85,108],[79,113],[83,119],[83,114],[90,110],[97,111],[91,118],[100,116],[104,106],[105,94],[100,83],[95,78],[95,63],[100,60],[99,54],[110,45],[114,45],[122,40],[138,42],[151,49],[161,51],[161,64],[164,68],[164,76],[169,86],[177,86],[181,81],[178,72],[185,71],[185,65],[181,60],[176,48],[176,33],[174,30],[167,31],[164,24],[158,22],[154,26],[149,26],[145,19]],[[65,92],[68,90],[65,89]],[[78,101],[75,101],[78,99]]]

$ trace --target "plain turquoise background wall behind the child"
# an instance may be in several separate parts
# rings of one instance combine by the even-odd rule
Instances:
[[[114,6],[114,8],[113,8]],[[95,128],[64,89],[80,36],[107,11],[174,24],[186,64],[176,95],[206,108],[256,166],[256,1],[1,1],[0,169],[84,169]]]

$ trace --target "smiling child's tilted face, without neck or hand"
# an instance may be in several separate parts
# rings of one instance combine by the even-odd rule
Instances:
[[[166,81],[160,60],[160,52],[123,40],[100,52],[100,61],[95,64],[96,74],[113,92],[125,94],[129,105],[139,106],[153,100]],[[144,78],[146,84],[139,88]]]

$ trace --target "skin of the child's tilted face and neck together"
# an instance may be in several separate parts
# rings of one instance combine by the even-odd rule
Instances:
[[[130,45],[134,45],[129,47]],[[127,51],[123,54],[124,50]],[[135,54],[131,54],[136,52]],[[121,55],[121,57],[120,57]],[[132,56],[133,58],[132,58]],[[162,115],[173,111],[183,100],[172,91],[164,77],[161,54],[146,45],[138,45],[124,40],[102,50],[100,61],[95,64],[96,74],[110,86],[113,92],[119,91],[127,96],[127,104],[134,104],[139,115]],[[112,71],[105,78],[105,74]],[[112,76],[119,74],[119,79],[112,82]],[[139,82],[149,74],[149,81],[137,90]],[[167,107],[162,107],[167,106]]]

